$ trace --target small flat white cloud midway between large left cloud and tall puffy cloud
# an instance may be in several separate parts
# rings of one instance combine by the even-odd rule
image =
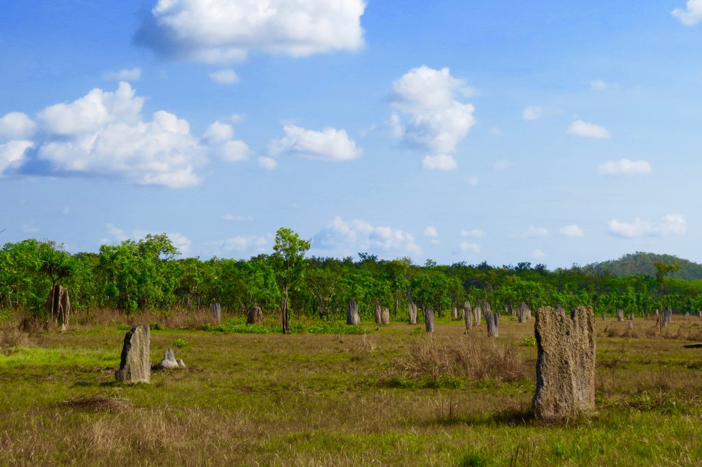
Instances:
[[[285,136],[270,143],[270,153],[295,154],[325,161],[351,161],[363,154],[346,130],[324,128],[322,131],[306,130],[299,126],[283,127]]]

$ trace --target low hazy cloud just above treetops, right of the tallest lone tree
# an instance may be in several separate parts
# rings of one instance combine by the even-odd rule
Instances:
[[[388,226],[373,226],[360,219],[334,219],[312,238],[312,248],[336,250],[340,255],[355,255],[359,251],[384,257],[421,255],[414,236]]]

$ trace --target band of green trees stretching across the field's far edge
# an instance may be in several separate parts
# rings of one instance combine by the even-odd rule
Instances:
[[[270,255],[251,259],[179,258],[166,234],[147,235],[98,252],[71,254],[54,241],[28,239],[0,250],[0,308],[45,313],[51,287],[68,288],[74,309],[199,309],[217,302],[238,315],[251,306],[264,313],[322,319],[345,317],[357,302],[370,318],[376,305],[403,318],[408,305],[440,317],[451,308],[489,302],[511,313],[519,304],[593,306],[596,313],[653,313],[654,309],[696,312],[702,308],[702,280],[669,277],[675,266],[656,264],[653,275],[611,276],[574,265],[548,270],[543,264],[491,266],[456,262],[441,265],[409,258],[307,257],[310,241],[279,229]]]

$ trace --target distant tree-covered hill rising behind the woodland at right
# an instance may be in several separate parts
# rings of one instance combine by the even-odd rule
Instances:
[[[630,276],[632,274],[655,276],[656,266],[654,266],[654,264],[656,263],[679,264],[680,271],[671,274],[671,277],[680,279],[702,279],[702,264],[697,264],[673,255],[656,255],[654,253],[644,253],[640,251],[630,255],[624,255],[619,259],[588,264],[588,266],[585,266],[583,269],[589,273],[610,273],[612,276],[620,277]]]

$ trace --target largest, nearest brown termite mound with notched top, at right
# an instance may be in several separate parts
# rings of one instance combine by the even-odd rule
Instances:
[[[559,421],[595,411],[595,314],[578,306],[562,316],[546,306],[536,313],[534,416]]]

